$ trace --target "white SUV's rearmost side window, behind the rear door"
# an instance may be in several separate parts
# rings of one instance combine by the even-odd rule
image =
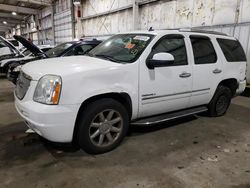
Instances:
[[[217,39],[228,62],[246,61],[245,52],[237,40]]]

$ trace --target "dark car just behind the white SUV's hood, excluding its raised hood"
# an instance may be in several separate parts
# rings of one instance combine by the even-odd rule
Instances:
[[[21,66],[38,59],[45,58],[55,58],[55,57],[65,57],[65,56],[75,56],[75,55],[84,55],[88,53],[90,50],[99,45],[102,41],[92,39],[92,40],[80,40],[80,41],[72,41],[62,43],[55,48],[50,49],[43,56],[39,56],[34,59],[20,60],[20,61],[12,61],[9,65],[7,78],[9,81],[16,84]]]

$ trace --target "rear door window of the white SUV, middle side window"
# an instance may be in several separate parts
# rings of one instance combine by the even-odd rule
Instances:
[[[210,64],[217,62],[217,55],[209,38],[190,36],[195,64]]]

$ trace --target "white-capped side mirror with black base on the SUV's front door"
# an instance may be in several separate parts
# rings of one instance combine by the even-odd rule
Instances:
[[[146,64],[149,69],[154,69],[155,67],[167,67],[174,63],[174,56],[170,53],[157,53],[152,59],[148,59]]]

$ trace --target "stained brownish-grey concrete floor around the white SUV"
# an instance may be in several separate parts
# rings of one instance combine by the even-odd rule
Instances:
[[[131,128],[116,150],[88,155],[25,134],[13,85],[0,79],[0,187],[248,188],[250,98],[224,117],[192,116]]]

